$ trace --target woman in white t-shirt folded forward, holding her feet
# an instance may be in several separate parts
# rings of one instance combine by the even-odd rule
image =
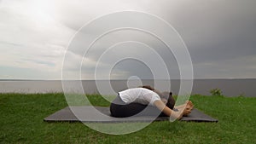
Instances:
[[[188,115],[194,107],[191,101],[178,107],[174,107],[174,104],[172,93],[160,93],[159,90],[150,86],[143,86],[120,91],[110,105],[110,112],[117,118],[131,117],[136,114],[171,117],[172,114],[172,118],[180,119]]]

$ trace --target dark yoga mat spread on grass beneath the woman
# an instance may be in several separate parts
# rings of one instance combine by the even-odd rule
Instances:
[[[75,114],[74,114],[75,113]],[[150,116],[137,116],[129,118],[113,118],[110,116],[109,107],[65,107],[49,117],[44,118],[46,122],[88,122],[88,123],[122,123],[122,122],[150,122],[169,120],[169,117],[153,118]],[[207,114],[193,109],[187,117],[181,121],[193,122],[218,122],[218,119],[212,118]]]

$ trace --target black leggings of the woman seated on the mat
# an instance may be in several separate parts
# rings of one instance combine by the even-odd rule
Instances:
[[[146,107],[147,109],[145,109]],[[144,109],[145,111],[143,111]],[[117,118],[131,117],[136,114],[138,114],[138,116],[166,116],[164,113],[160,112],[157,107],[142,105],[134,102],[125,104],[119,95],[111,102],[110,112],[113,117]]]

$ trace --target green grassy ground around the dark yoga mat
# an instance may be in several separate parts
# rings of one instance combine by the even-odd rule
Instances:
[[[90,95],[97,106],[108,106]],[[256,143],[256,98],[192,95],[218,123],[154,122],[128,135],[107,135],[81,123],[46,123],[67,107],[63,94],[0,94],[0,143]]]

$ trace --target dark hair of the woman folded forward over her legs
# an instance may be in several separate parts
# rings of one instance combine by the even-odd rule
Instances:
[[[164,98],[164,99],[167,100],[166,107],[169,107],[169,108],[173,109],[173,107],[175,105],[175,100],[172,97],[172,92],[165,91],[165,92],[160,93],[158,90],[152,88],[150,85],[143,85],[143,86],[140,86],[140,87],[154,91],[155,93],[160,95],[160,98]]]

